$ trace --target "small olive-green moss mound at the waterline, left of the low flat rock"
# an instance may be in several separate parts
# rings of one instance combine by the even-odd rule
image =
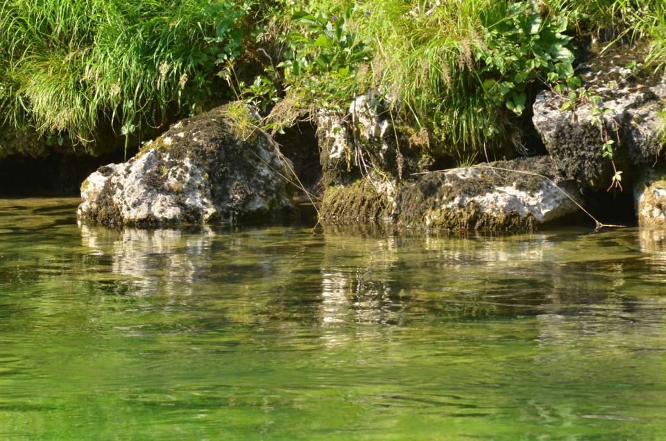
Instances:
[[[385,222],[393,218],[393,205],[361,178],[346,187],[327,188],[319,212],[324,223]]]

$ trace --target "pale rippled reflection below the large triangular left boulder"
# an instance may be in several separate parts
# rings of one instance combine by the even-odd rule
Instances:
[[[112,259],[112,272],[133,278],[140,294],[191,294],[191,282],[207,274],[214,232],[182,230],[110,230],[81,226],[83,245]]]

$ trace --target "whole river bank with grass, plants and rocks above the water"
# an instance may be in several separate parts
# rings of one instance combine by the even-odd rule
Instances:
[[[323,223],[666,223],[658,1],[187,2],[3,10],[3,193],[80,187],[106,225],[289,216],[293,195]],[[76,63],[42,69],[58,51]]]

